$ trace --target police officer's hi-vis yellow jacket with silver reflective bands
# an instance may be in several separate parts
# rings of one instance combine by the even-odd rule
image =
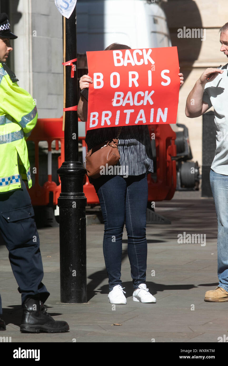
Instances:
[[[0,194],[32,185],[25,140],[37,123],[31,95],[12,82],[0,63]]]

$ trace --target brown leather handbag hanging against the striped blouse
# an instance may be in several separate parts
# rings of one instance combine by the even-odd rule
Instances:
[[[100,145],[92,147],[86,155],[86,160],[83,163],[83,167],[87,171],[87,176],[93,179],[101,176],[100,171],[102,167],[108,167],[116,165],[120,160],[120,154],[118,150],[118,138],[122,127],[119,128],[118,135],[112,140],[100,143]],[[86,163],[86,167],[85,167]]]

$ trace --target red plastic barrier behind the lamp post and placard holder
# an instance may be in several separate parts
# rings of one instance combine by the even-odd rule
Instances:
[[[61,192],[61,183],[56,184],[52,181],[51,175],[51,143],[56,141],[56,150],[59,149],[61,143],[61,155],[58,158],[58,168],[64,162],[64,132],[62,131],[63,119],[38,119],[37,126],[31,133],[28,140],[35,143],[35,184],[28,190],[31,202],[34,206],[46,206],[49,203],[49,193],[53,192],[53,205],[57,205],[57,200]],[[176,162],[171,159],[176,156],[175,138],[176,134],[169,125],[151,125],[149,127],[150,135],[155,134],[156,142],[156,164],[157,179],[156,182],[151,175],[147,175],[148,182],[148,201],[162,201],[164,199],[172,199],[176,189]],[[79,137],[82,140],[82,146],[86,148],[85,136]],[[39,184],[39,150],[38,143],[40,141],[48,142],[48,181],[43,186]],[[32,169],[33,167],[31,167]],[[87,175],[85,175],[83,191],[87,198],[88,204],[99,204],[96,191],[92,184],[89,183]]]

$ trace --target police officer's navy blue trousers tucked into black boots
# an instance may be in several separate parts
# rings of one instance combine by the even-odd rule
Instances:
[[[0,243],[6,244],[9,251],[10,264],[22,303],[27,297],[40,299],[44,303],[50,294],[41,282],[44,271],[40,239],[33,206],[24,182],[23,190],[0,193]]]

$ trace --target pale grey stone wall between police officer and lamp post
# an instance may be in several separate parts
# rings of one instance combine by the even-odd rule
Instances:
[[[54,0],[10,0],[14,71],[36,101],[39,118],[63,115],[62,16]]]

